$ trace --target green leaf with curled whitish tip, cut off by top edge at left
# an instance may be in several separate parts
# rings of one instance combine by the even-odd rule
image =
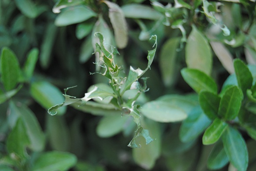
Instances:
[[[83,0],[58,0],[58,2],[52,8],[52,12],[60,13],[60,10],[62,8],[76,6],[80,4],[84,4],[84,1]]]

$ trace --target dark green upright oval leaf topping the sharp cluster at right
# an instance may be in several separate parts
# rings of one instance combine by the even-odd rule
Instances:
[[[252,74],[249,68],[240,59],[234,60],[234,69],[238,85],[245,94],[246,90],[252,87]]]

